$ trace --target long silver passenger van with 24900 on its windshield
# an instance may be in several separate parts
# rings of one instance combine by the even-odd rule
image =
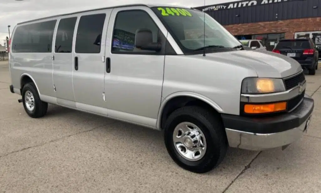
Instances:
[[[134,4],[18,23],[9,57],[10,91],[30,117],[51,103],[160,130],[171,158],[197,173],[220,164],[229,146],[286,147],[314,108],[297,61],[245,50],[187,7]]]

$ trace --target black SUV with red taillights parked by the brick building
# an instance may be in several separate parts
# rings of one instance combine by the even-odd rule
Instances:
[[[309,70],[309,75],[315,75],[318,69],[319,49],[310,38],[282,39],[272,52],[283,54],[298,61],[302,68]]]

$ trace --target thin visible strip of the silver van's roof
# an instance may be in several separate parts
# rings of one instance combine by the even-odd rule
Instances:
[[[73,12],[73,13],[65,13],[65,14],[59,14],[59,15],[52,15],[49,17],[43,17],[39,19],[34,19],[34,20],[29,20],[26,22],[20,22],[17,23],[17,25],[24,24],[24,23],[29,23],[29,22],[35,22],[43,19],[50,19],[54,17],[59,17],[59,16],[65,16],[65,15],[72,15],[76,13],[84,13],[84,12],[89,12],[89,11],[97,11],[97,10],[103,10],[103,9],[111,9],[111,8],[119,8],[119,7],[131,7],[131,6],[146,6],[146,7],[182,7],[182,8],[187,8],[187,9],[194,9],[192,7],[187,7],[187,6],[178,6],[178,5],[170,5],[170,4],[124,4],[124,5],[117,5],[117,6],[112,6],[112,7],[103,7],[103,8],[97,8],[97,9],[89,9],[89,10],[83,10],[83,11],[78,11],[78,12]],[[194,9],[196,10],[196,9]],[[196,10],[199,11],[199,10]]]

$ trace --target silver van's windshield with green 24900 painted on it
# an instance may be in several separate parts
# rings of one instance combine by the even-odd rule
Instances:
[[[221,24],[201,11],[178,7],[152,7],[152,10],[185,54],[203,50],[204,34],[205,48],[213,52],[218,49],[231,50],[226,48],[240,45],[239,40]]]

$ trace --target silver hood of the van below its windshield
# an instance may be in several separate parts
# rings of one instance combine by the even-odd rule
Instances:
[[[293,58],[266,50],[239,50],[206,54],[207,59],[216,62],[252,67],[258,77],[284,78],[302,71]]]

